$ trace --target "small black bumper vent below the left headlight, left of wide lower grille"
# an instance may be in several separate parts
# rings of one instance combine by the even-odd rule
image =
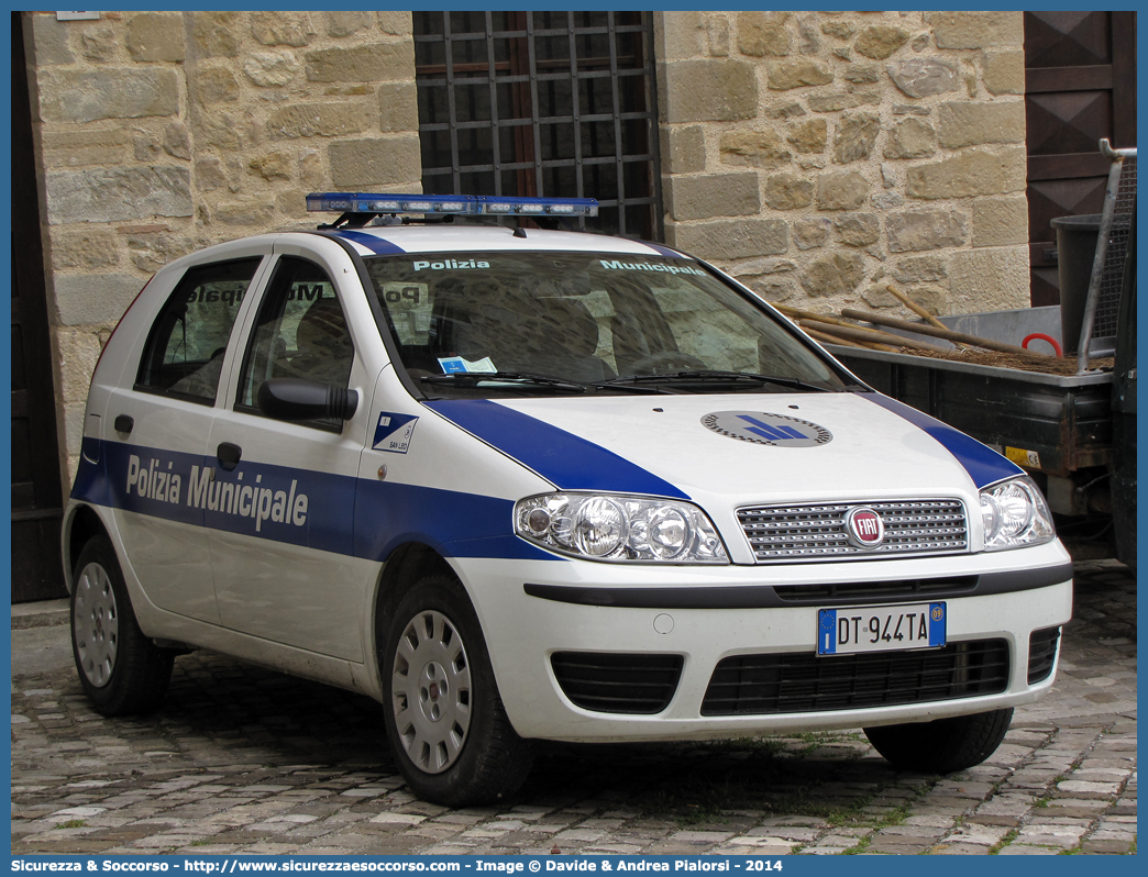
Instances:
[[[680,654],[554,652],[550,665],[576,706],[595,713],[653,715],[669,706],[682,677]]]

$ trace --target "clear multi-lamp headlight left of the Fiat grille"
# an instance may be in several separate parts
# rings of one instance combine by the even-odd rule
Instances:
[[[728,564],[697,506],[607,494],[545,494],[514,506],[514,531],[551,551],[590,560]]]

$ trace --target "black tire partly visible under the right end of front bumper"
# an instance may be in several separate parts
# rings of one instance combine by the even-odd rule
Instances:
[[[864,734],[893,767],[952,774],[975,767],[996,752],[1011,721],[1011,708],[994,709],[933,722],[866,728]]]

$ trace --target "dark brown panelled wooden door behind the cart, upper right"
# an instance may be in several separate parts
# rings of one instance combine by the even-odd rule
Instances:
[[[1137,145],[1137,14],[1024,14],[1032,304],[1057,304],[1058,216],[1099,214],[1108,160]]]

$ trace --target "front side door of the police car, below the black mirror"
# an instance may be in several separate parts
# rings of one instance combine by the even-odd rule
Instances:
[[[350,258],[325,238],[313,241],[274,247],[236,380],[211,425],[216,481],[205,522],[225,627],[360,661],[377,565],[352,553],[355,491],[362,401],[381,365],[369,374],[357,350],[372,335],[381,342]],[[351,387],[359,410],[347,421],[267,418],[257,398],[270,378]]]

